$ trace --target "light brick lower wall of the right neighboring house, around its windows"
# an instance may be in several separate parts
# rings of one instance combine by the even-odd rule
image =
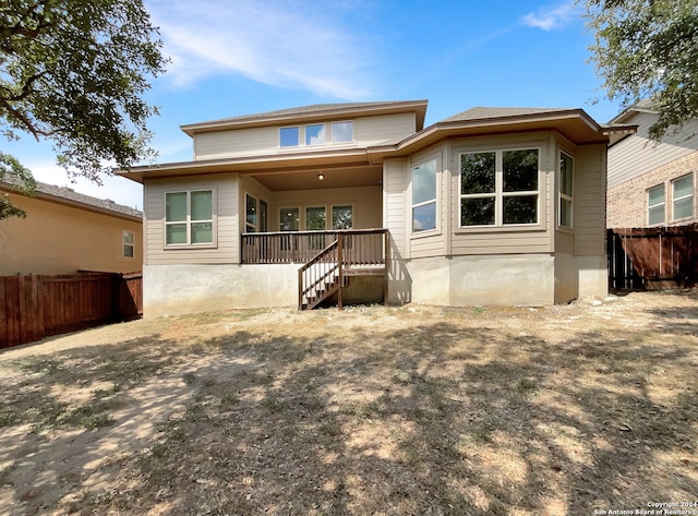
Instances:
[[[693,217],[672,220],[672,181],[688,173],[694,175],[694,211]],[[664,183],[664,224],[658,226],[678,226],[698,221],[696,211],[696,192],[698,191],[698,152],[655,168],[617,187],[611,188],[606,194],[606,227],[639,228],[648,224],[647,191]]]

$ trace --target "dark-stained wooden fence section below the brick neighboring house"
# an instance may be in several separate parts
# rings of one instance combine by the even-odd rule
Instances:
[[[698,280],[698,224],[607,230],[609,287],[665,289]]]

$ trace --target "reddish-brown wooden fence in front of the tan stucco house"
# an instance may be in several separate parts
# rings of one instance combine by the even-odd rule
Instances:
[[[0,277],[0,348],[142,314],[141,273]]]

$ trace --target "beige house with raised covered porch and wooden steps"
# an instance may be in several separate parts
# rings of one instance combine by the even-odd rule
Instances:
[[[146,316],[606,295],[606,147],[581,109],[316,105],[182,125],[145,191]]]

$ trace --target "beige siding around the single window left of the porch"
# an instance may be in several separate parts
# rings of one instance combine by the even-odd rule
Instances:
[[[215,190],[217,245],[210,248],[165,249],[165,193],[182,190]],[[198,176],[185,179],[152,179],[145,183],[145,263],[222,264],[239,263],[237,175]]]

